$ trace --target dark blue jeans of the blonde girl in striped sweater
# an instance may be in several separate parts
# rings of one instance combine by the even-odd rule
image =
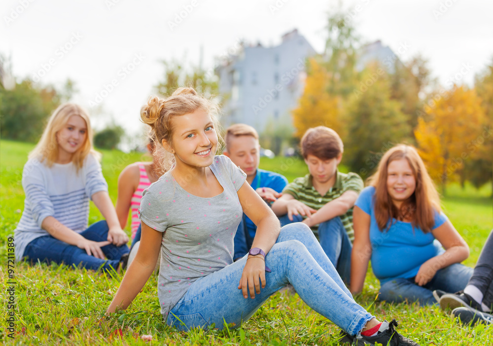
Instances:
[[[84,238],[95,242],[102,242],[108,237],[108,224],[105,220],[93,223],[85,231],[80,233]],[[31,261],[51,261],[57,264],[65,263],[68,265],[78,266],[92,270],[102,268],[109,271],[111,268],[118,268],[120,257],[129,252],[127,245],[117,247],[109,244],[101,248],[105,256],[108,258],[100,259],[91,255],[83,249],[79,249],[74,245],[67,244],[58,240],[51,235],[36,238],[28,244],[24,250],[24,256],[27,256]]]

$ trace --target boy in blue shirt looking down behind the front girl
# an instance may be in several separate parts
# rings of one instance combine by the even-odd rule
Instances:
[[[257,131],[246,124],[235,124],[226,129],[226,149],[223,154],[246,173],[246,181],[268,204],[282,195],[287,179],[281,174],[258,168],[260,144]],[[234,260],[246,255],[251,248],[257,226],[243,215],[235,235]]]

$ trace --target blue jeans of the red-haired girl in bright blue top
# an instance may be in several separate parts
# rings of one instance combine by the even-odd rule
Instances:
[[[419,301],[421,305],[437,304],[432,292],[441,289],[454,293],[464,289],[472,276],[473,269],[460,263],[454,263],[436,272],[433,279],[424,286],[419,286],[411,279],[392,279],[380,287],[380,300],[392,303]]]

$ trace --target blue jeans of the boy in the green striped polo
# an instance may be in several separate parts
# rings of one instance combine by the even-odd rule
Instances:
[[[291,221],[286,214],[279,220],[281,225],[284,226],[292,222],[301,222],[303,218],[300,215],[293,215],[293,221]],[[318,240],[342,280],[349,285],[351,280],[352,244],[341,218],[335,217],[331,220],[320,222],[318,225]]]

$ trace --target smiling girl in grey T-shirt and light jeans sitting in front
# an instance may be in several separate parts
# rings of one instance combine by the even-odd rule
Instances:
[[[215,108],[191,88],[151,97],[141,119],[169,154],[168,170],[144,190],[141,244],[107,309],[126,309],[149,279],[158,254],[158,298],[168,325],[180,330],[240,326],[274,292],[291,283],[314,310],[354,337],[417,345],[356,304],[308,226],[281,229],[274,213],[228,157],[216,156]],[[257,225],[252,249],[233,262],[242,212]],[[270,268],[270,269],[269,269]],[[323,299],[320,299],[323,297]],[[372,343],[373,345],[373,343]]]

